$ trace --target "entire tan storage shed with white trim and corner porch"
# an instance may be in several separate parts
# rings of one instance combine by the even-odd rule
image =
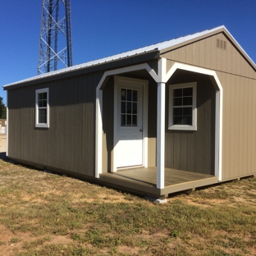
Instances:
[[[256,66],[220,26],[7,90],[7,157],[154,197],[256,174]]]

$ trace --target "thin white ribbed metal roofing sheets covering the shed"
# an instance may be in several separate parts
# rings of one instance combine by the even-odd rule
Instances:
[[[231,39],[233,39],[235,41],[235,43],[240,47],[240,44],[237,43],[236,40],[233,38],[233,36],[229,33],[229,31],[226,30],[226,27],[224,25],[221,25],[221,26],[218,26],[218,27],[213,28],[211,30],[204,30],[202,32],[198,32],[198,33],[195,33],[195,34],[189,34],[189,35],[183,36],[183,37],[178,38],[178,39],[171,39],[171,40],[168,40],[168,41],[165,41],[165,42],[162,42],[162,43],[156,43],[156,44],[152,44],[152,45],[149,45],[149,46],[146,46],[146,47],[143,47],[143,48],[138,48],[138,49],[126,52],[126,53],[120,53],[120,54],[116,54],[116,55],[113,55],[113,56],[110,56],[110,57],[103,57],[101,59],[98,59],[98,60],[95,60],[95,61],[92,61],[92,62],[85,62],[85,63],[80,64],[80,65],[66,67],[66,68],[63,68],[63,69],[58,70],[58,71],[52,71],[52,72],[45,73],[43,75],[36,75],[36,76],[30,77],[30,78],[25,79],[25,80],[20,80],[20,81],[17,81],[15,83],[11,83],[9,85],[4,85],[3,88],[5,89],[6,87],[11,86],[11,85],[19,85],[19,84],[22,84],[22,83],[25,83],[25,82],[29,82],[29,81],[33,81],[33,80],[40,80],[40,79],[43,79],[43,78],[46,78],[46,77],[50,77],[50,76],[53,76],[53,75],[59,75],[59,74],[67,73],[67,72],[70,72],[70,71],[77,71],[77,70],[80,70],[80,69],[87,68],[89,66],[95,66],[95,65],[102,64],[102,63],[106,63],[106,62],[113,62],[113,61],[116,61],[117,59],[122,59],[122,58],[125,58],[125,57],[132,57],[132,56],[135,56],[135,55],[138,55],[138,54],[141,54],[141,53],[149,53],[153,50],[161,51],[161,50],[166,49],[166,48],[171,48],[171,47],[173,47],[175,45],[178,45],[180,43],[185,43],[187,41],[190,41],[191,39],[196,39],[196,38],[199,38],[201,36],[211,34],[211,33],[215,32],[217,30],[225,30],[226,34],[228,34],[231,37]],[[246,57],[249,58],[249,60],[252,63],[254,63],[253,60],[248,56],[248,54],[245,53],[245,50],[243,48],[240,47],[240,50],[245,54]],[[254,66],[255,66],[255,63],[254,63]]]

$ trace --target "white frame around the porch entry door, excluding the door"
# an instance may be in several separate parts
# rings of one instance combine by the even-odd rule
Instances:
[[[142,85],[143,86],[143,103],[142,103],[142,126],[143,126],[143,133],[142,133],[142,165],[144,167],[148,167],[148,95],[149,95],[149,81],[147,80],[140,80],[130,77],[124,77],[115,75],[114,76],[114,106],[117,106],[117,83],[118,82],[128,82],[130,84],[135,85]],[[117,107],[114,107],[114,148],[113,148],[113,169],[112,171],[117,171],[117,159],[115,158],[115,145],[117,145],[118,137],[117,137]]]

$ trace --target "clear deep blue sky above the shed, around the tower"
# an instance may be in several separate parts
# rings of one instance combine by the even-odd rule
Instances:
[[[2,85],[37,75],[43,0],[0,2]],[[256,0],[71,0],[73,64],[225,25],[256,63]]]

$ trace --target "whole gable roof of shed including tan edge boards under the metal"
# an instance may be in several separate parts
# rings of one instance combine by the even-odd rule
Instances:
[[[9,85],[4,85],[3,88],[4,89],[9,89],[9,87],[11,87],[12,85],[19,85],[19,84],[23,84],[25,82],[30,82],[33,80],[40,80],[46,77],[51,77],[54,75],[60,75],[60,74],[64,74],[67,72],[71,72],[71,71],[78,71],[78,70],[82,70],[91,66],[97,66],[97,65],[101,65],[103,63],[108,63],[108,62],[115,62],[117,60],[121,60],[127,57],[135,57],[138,56],[140,54],[144,54],[144,53],[152,53],[152,52],[158,52],[159,54],[161,53],[165,53],[167,51],[171,51],[175,48],[180,48],[181,46],[184,46],[185,44],[188,43],[193,43],[194,41],[212,36],[213,34],[218,34],[218,33],[224,33],[226,35],[226,37],[228,39],[231,40],[231,42],[235,45],[235,48],[237,48],[237,50],[245,57],[246,61],[249,62],[249,65],[252,66],[254,68],[254,70],[256,71],[256,65],[254,63],[254,61],[249,57],[249,55],[247,53],[245,53],[245,50],[240,46],[239,43],[237,43],[237,41],[235,40],[235,38],[231,35],[231,33],[226,30],[226,27],[224,25],[218,26],[216,28],[213,28],[211,30],[204,30],[202,32],[199,33],[195,33],[195,34],[189,34],[177,39],[171,39],[162,43],[156,43],[156,44],[152,44],[143,48],[138,48],[126,53],[120,53],[120,54],[116,54],[110,57],[103,57],[101,59],[95,60],[95,61],[91,61],[91,62],[85,62],[79,65],[75,65],[75,66],[70,66],[70,67],[66,67],[63,68],[61,70],[58,71],[51,71],[48,73],[45,73],[43,75],[36,75],[33,76],[29,79],[25,79],[25,80],[20,80],[17,81],[15,83],[11,83]]]

